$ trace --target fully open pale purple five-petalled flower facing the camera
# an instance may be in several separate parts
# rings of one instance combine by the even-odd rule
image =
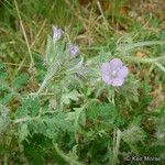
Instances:
[[[123,66],[123,63],[119,58],[113,58],[101,66],[102,80],[114,87],[122,86],[128,74],[129,68]]]

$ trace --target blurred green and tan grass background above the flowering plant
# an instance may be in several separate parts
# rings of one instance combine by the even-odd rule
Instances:
[[[21,22],[30,48],[41,55],[53,24],[69,29],[72,41],[81,47],[107,45],[125,33],[132,40],[165,37],[165,1],[0,0],[0,58],[8,63],[28,54]]]

